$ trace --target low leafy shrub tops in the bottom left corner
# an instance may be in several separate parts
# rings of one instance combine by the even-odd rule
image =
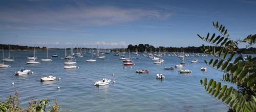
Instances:
[[[46,110],[46,107],[50,106],[49,99],[42,99],[39,102],[37,102],[36,100],[32,100],[31,102],[29,102],[28,108],[22,109],[22,107],[20,107],[20,100],[18,99],[18,95],[18,93],[15,93],[13,96],[9,96],[7,101],[1,101],[0,111],[60,111],[60,106],[58,106],[57,100],[55,100],[55,103],[50,110]]]

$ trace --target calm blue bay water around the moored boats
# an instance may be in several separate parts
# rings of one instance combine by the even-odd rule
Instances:
[[[55,51],[50,51],[49,56]],[[133,53],[132,57],[135,55]],[[8,55],[8,52],[5,52]],[[5,62],[11,68],[0,69],[0,98],[6,100],[14,91],[20,93],[22,106],[27,107],[28,102],[33,99],[49,98],[51,104],[54,99],[62,111],[227,111],[228,108],[219,101],[204,92],[200,79],[205,77],[220,81],[222,73],[207,67],[207,72],[200,71],[205,66],[204,59],[210,57],[187,57],[188,65],[183,69],[189,69],[191,74],[179,74],[179,69],[174,71],[164,70],[164,66],[179,64],[177,57],[162,57],[164,63],[153,64],[150,58],[140,56],[133,58],[136,65],[132,68],[123,69],[120,56],[105,54],[105,60],[97,62],[86,62],[91,54],[78,57],[79,69],[63,69],[60,59],[64,51],[59,51],[60,57],[53,57],[51,62],[40,64],[26,64],[27,57],[32,55],[31,51],[11,51],[11,57],[15,62]],[[45,51],[37,51],[39,59],[46,58]],[[1,53],[2,56],[2,53]],[[191,60],[198,59],[198,63]],[[20,67],[31,69],[34,74],[14,76],[13,73]],[[139,69],[148,69],[150,74],[136,74]],[[112,74],[115,74],[113,77]],[[165,75],[164,80],[155,78],[157,73]],[[40,77],[56,76],[61,80],[40,82]],[[93,84],[102,78],[115,80],[106,86],[95,87]],[[12,85],[11,82],[15,84]],[[226,84],[222,82],[222,84]],[[57,90],[57,86],[61,88]]]

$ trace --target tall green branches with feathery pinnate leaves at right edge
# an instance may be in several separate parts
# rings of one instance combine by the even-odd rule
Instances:
[[[256,98],[255,98],[255,83],[256,83],[256,58],[247,55],[243,58],[241,49],[238,48],[240,43],[247,43],[246,48],[255,44],[256,35],[249,35],[243,40],[233,41],[227,34],[227,29],[219,23],[213,23],[214,27],[219,31],[220,35],[207,34],[203,37],[198,36],[214,46],[205,47],[203,44],[202,50],[215,57],[209,62],[205,60],[205,63],[214,69],[217,69],[224,73],[222,81],[234,83],[238,85],[235,89],[232,86],[221,86],[221,82],[216,82],[210,79],[207,82],[207,78],[200,80],[204,86],[205,91],[221,101],[223,104],[229,107],[229,111],[256,111]],[[216,50],[216,47],[221,49]],[[228,57],[227,54],[230,54]],[[238,57],[234,58],[235,55]]]

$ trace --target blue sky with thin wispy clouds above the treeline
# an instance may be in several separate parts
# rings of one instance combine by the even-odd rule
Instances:
[[[0,0],[0,43],[48,48],[201,46],[207,43],[197,34],[218,33],[212,21],[223,24],[233,40],[256,34],[256,1]]]

